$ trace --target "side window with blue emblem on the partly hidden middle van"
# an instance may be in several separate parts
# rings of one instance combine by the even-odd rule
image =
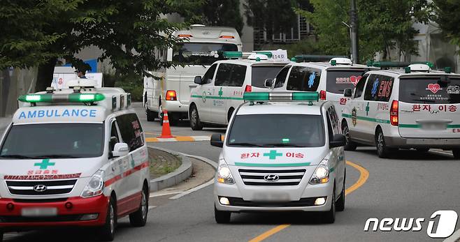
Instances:
[[[287,78],[287,90],[316,91],[319,86],[321,71],[304,66],[294,66]]]

